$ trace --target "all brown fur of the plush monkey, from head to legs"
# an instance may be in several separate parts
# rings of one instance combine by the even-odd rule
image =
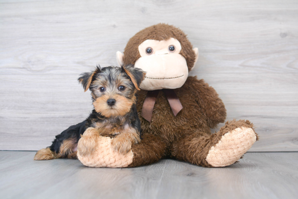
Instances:
[[[146,39],[161,41],[171,37],[181,43],[180,54],[185,57],[190,70],[195,61],[191,43],[182,30],[162,23],[141,30],[128,41],[124,50],[124,64],[134,64],[140,58],[138,46]],[[175,117],[165,94],[160,91],[151,122],[141,117],[148,91],[138,92],[137,111],[144,139],[132,146],[134,159],[129,167],[153,163],[165,155],[211,167],[206,161],[206,156],[210,148],[219,142],[226,132],[238,127],[253,127],[249,121],[231,121],[219,132],[211,134],[210,128],[216,127],[226,118],[226,109],[216,91],[196,77],[188,77],[185,84],[174,91],[183,106],[182,110]]]

